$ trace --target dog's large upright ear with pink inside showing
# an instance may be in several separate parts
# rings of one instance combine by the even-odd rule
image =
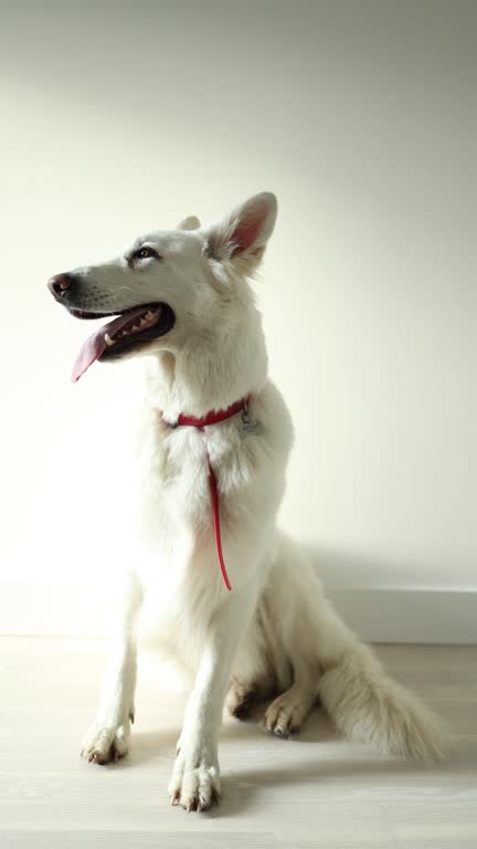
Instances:
[[[277,199],[269,191],[254,195],[241,207],[205,230],[208,253],[214,260],[240,263],[251,274],[264,254],[277,214]]]

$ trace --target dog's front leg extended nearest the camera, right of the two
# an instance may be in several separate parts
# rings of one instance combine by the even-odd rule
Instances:
[[[218,737],[231,667],[254,607],[248,589],[233,590],[212,617],[190,695],[169,784],[172,805],[205,810],[221,793]]]

